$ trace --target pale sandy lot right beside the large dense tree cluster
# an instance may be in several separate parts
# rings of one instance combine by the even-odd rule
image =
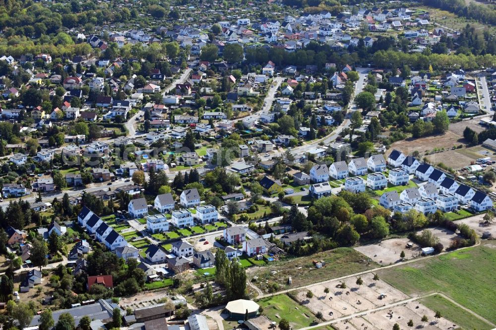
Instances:
[[[413,247],[407,248],[406,244],[412,243],[408,238],[391,238],[378,244],[369,244],[355,248],[360,253],[365,254],[381,266],[395,264],[401,261],[401,251],[405,251],[405,259],[417,256],[420,252],[420,246],[413,243]]]

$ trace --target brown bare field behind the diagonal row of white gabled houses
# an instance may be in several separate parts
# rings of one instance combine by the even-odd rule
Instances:
[[[409,138],[396,141],[391,145],[391,148],[386,151],[386,156],[388,156],[393,149],[400,150],[405,155],[411,155],[414,151],[418,151],[423,155],[426,151],[431,151],[434,148],[451,149],[453,146],[465,143],[465,139],[463,139],[463,136],[461,135],[462,133],[463,130],[460,131],[459,134],[455,134],[448,130],[442,135],[438,134],[419,139]]]

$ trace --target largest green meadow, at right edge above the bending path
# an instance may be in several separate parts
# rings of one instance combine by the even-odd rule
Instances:
[[[496,246],[451,252],[379,276],[406,294],[439,290],[457,303],[496,323]]]

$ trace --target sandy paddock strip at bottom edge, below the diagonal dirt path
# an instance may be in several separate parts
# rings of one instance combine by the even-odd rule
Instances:
[[[338,330],[381,330],[392,329],[397,323],[400,329],[456,329],[458,328],[453,322],[444,318],[435,319],[434,311],[418,303],[411,301],[405,304],[394,306],[390,309],[383,309],[360,318],[351,318],[332,325]],[[429,322],[422,322],[422,317],[426,315]],[[408,321],[413,321],[413,327],[407,325]]]

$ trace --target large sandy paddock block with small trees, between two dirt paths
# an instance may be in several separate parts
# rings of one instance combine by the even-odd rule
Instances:
[[[360,286],[356,284],[357,277],[350,277],[344,281],[346,289],[336,287],[340,281],[332,281],[327,285],[330,290],[327,295],[324,293],[326,285],[315,284],[310,287],[313,293],[311,299],[306,297],[307,289],[299,291],[297,299],[313,313],[321,312],[324,319],[330,321],[408,298],[401,291],[381,280],[374,281],[372,277],[370,273],[363,275],[363,284]],[[381,294],[386,297],[379,300]]]

